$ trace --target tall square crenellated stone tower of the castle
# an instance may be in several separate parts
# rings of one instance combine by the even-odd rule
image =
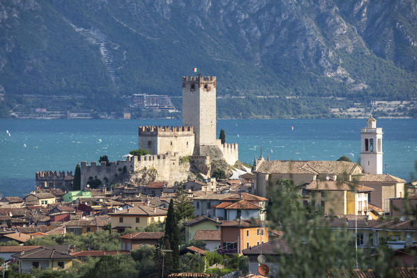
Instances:
[[[201,75],[183,77],[183,125],[194,127],[195,155],[213,155],[213,146],[218,146],[215,79]]]

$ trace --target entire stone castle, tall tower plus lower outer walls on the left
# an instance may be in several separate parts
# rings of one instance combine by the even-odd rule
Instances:
[[[109,185],[123,173],[155,168],[156,180],[176,181],[188,178],[188,169],[181,169],[180,157],[190,157],[193,165],[209,177],[212,160],[235,164],[238,144],[222,144],[216,137],[216,77],[183,77],[183,125],[180,127],[146,125],[138,129],[138,147],[152,155],[125,155],[117,162],[81,162],[81,185],[98,178]]]

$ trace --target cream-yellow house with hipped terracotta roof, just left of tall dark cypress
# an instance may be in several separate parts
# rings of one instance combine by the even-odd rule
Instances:
[[[145,228],[153,222],[163,222],[167,217],[167,210],[150,206],[137,206],[116,213],[109,213],[112,217],[112,229],[123,233],[125,229]]]

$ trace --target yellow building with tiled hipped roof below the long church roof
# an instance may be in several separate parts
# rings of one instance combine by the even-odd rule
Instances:
[[[302,191],[302,201],[328,215],[367,215],[368,196],[373,189],[344,181],[314,180]]]

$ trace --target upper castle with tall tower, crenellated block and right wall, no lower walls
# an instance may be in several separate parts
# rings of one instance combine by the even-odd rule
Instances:
[[[216,137],[216,77],[183,77],[183,125],[181,127],[139,127],[139,148],[153,154],[178,153],[238,160],[238,144],[222,144]]]

